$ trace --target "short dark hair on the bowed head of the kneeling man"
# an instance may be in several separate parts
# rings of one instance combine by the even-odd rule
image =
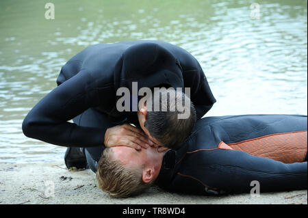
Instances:
[[[155,111],[153,105],[155,98],[152,98],[152,110],[146,113],[146,121],[144,127],[149,131],[152,137],[157,139],[162,146],[167,148],[175,148],[181,144],[192,132],[194,124],[196,123],[196,110],[192,104],[190,98],[183,92],[171,91],[175,94],[175,100],[181,100],[181,103],[188,102],[188,105],[183,105],[184,110],[190,111],[188,118],[179,119],[179,114],[183,111],[179,111],[175,105],[177,105],[172,98],[170,98],[170,89],[166,91],[159,91],[159,111]],[[162,96],[168,96],[168,98],[162,98]],[[165,99],[165,100],[164,100]],[[173,101],[173,102],[172,102]],[[163,110],[162,108],[165,108]]]

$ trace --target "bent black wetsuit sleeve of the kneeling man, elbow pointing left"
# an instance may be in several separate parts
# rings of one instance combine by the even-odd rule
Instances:
[[[96,81],[88,72],[81,70],[31,109],[23,121],[23,133],[58,146],[103,146],[105,128],[77,126],[68,122],[86,109],[98,105],[100,100]]]

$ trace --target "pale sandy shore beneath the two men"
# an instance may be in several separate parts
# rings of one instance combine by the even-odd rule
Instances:
[[[307,190],[208,197],[153,187],[137,197],[116,199],[97,187],[90,169],[68,171],[64,161],[0,163],[0,204],[307,204]]]

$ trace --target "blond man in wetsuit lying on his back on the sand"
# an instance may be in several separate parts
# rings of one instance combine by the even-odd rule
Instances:
[[[106,148],[99,187],[114,197],[157,184],[200,195],[307,189],[306,115],[233,115],[203,118],[179,150]]]

